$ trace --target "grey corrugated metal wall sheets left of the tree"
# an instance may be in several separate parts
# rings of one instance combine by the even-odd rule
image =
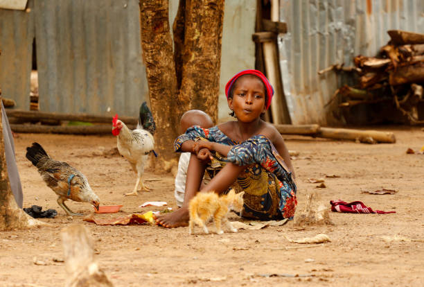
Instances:
[[[107,114],[110,108],[111,114],[136,116],[148,98],[139,1],[30,0],[29,5],[29,13],[1,10],[0,45],[7,43],[1,48],[6,52],[0,68],[3,94],[28,110],[31,49],[21,47],[19,60],[10,56],[15,59],[15,47],[30,45],[35,33],[40,110]],[[19,63],[11,67],[15,76],[3,69],[10,62]]]

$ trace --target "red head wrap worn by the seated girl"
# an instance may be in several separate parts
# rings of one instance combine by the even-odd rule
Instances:
[[[262,82],[263,91],[265,94],[265,107],[268,110],[271,105],[272,96],[274,95],[274,88],[272,87],[268,79],[265,77],[265,75],[258,70],[249,69],[236,73],[236,75],[234,75],[233,78],[231,78],[231,80],[227,82],[227,85],[225,85],[225,95],[227,96],[227,99],[233,98],[233,92],[234,89],[236,89],[237,87],[238,80],[240,78],[247,77],[258,78],[260,82]]]

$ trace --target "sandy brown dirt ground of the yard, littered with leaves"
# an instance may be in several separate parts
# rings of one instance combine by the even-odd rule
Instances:
[[[0,286],[63,286],[67,277],[60,229],[82,224],[89,228],[98,250],[98,263],[115,286],[424,286],[424,155],[407,155],[407,148],[424,144],[421,128],[385,127],[396,134],[395,144],[368,145],[349,141],[285,136],[297,173],[298,211],[306,195],[318,193],[330,208],[330,200],[360,200],[365,205],[396,214],[339,214],[330,212],[333,225],[239,230],[188,236],[188,228],[164,229],[151,225],[97,226],[81,217],[68,217],[56,195],[42,182],[25,158],[27,146],[37,141],[54,159],[66,161],[89,179],[102,205],[123,205],[114,218],[157,211],[166,207],[139,208],[146,201],[166,201],[177,208],[173,176],[147,172],[152,191],[124,197],[136,177],[125,159],[103,156],[116,147],[111,136],[17,134],[16,157],[24,190],[24,207],[56,209],[58,216],[42,221],[52,227],[0,233]],[[306,182],[325,178],[326,188]],[[394,195],[371,195],[365,190],[395,189]],[[89,214],[87,203],[69,202],[73,211]],[[231,216],[232,220],[240,220]],[[213,227],[211,227],[213,229]],[[304,247],[292,239],[327,234],[331,242]],[[404,241],[385,241],[382,236],[402,236]],[[410,240],[409,240],[410,239]],[[287,248],[286,248],[287,247]],[[42,261],[45,265],[37,265]]]

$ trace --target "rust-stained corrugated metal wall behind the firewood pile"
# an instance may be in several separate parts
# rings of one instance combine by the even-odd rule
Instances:
[[[279,56],[292,122],[339,123],[324,105],[351,79],[317,71],[351,66],[355,55],[376,55],[389,41],[387,30],[424,33],[424,1],[280,0],[280,21],[288,24],[288,33],[279,36]]]

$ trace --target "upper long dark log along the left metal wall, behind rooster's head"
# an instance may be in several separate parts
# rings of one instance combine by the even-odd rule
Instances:
[[[93,114],[58,114],[54,112],[33,112],[24,110],[9,110],[6,109],[8,116],[15,118],[40,120],[40,119],[55,119],[59,121],[87,121],[89,123],[110,123],[112,125],[112,116],[97,116]],[[138,118],[132,116],[120,116],[119,119],[125,124],[136,125]]]

